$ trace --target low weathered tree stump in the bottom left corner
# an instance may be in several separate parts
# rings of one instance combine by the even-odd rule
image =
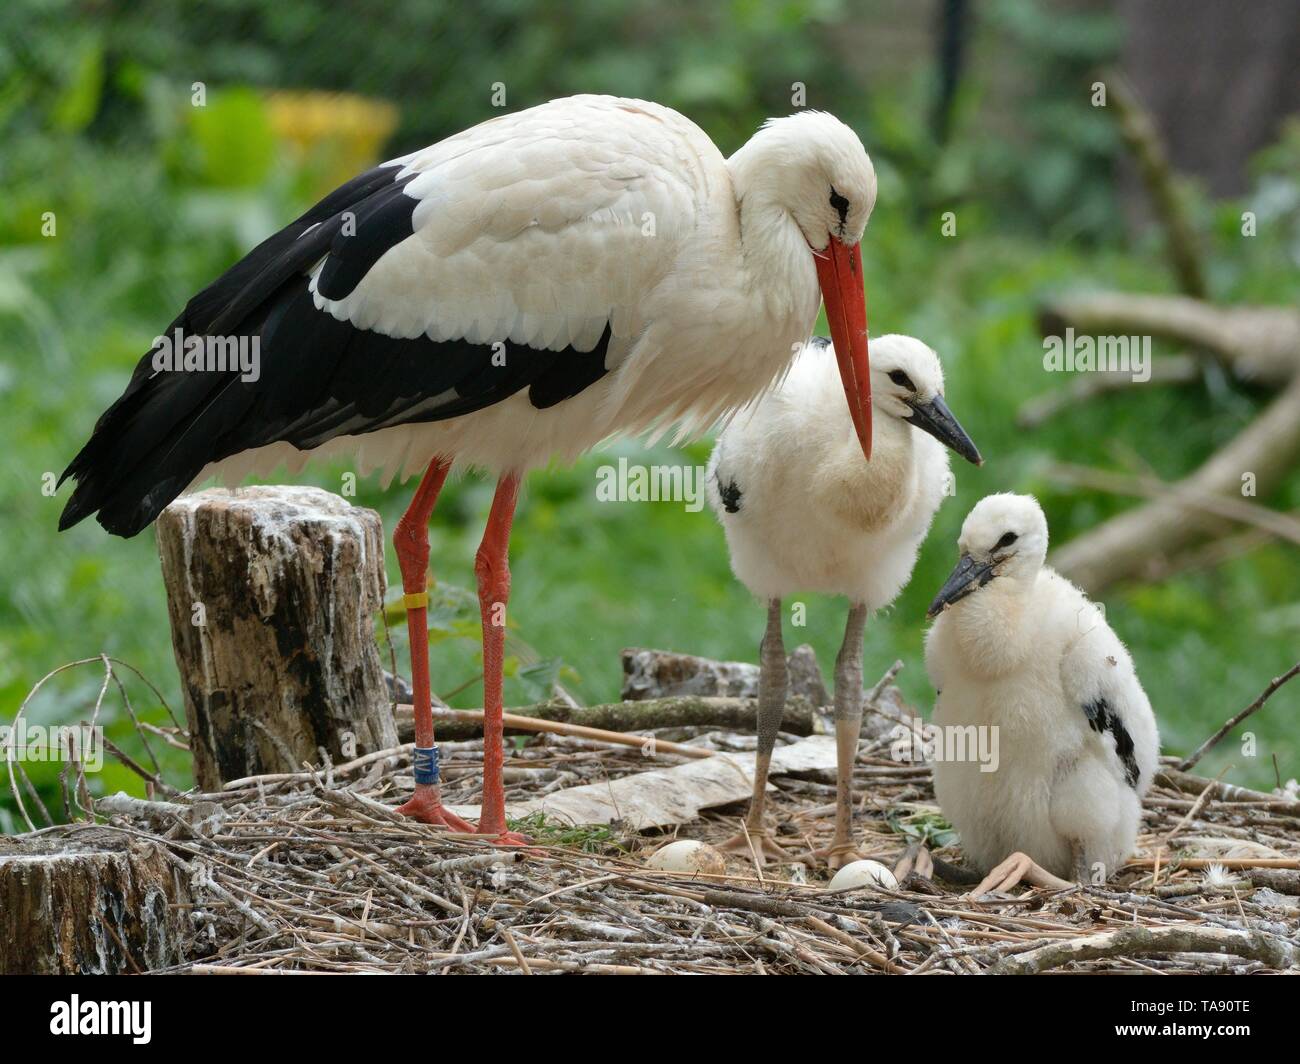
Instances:
[[[159,847],[117,831],[0,836],[0,976],[179,964],[187,894]]]

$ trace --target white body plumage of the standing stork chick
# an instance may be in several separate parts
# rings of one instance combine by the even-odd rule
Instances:
[[[894,412],[888,373],[898,364],[942,393],[939,360],[920,341],[872,339],[871,363],[878,415],[880,406]],[[708,463],[708,499],[732,570],[755,596],[824,592],[878,610],[906,587],[950,484],[948,450],[900,416],[876,416],[874,437],[863,462],[835,354],[820,338],[727,425]]]

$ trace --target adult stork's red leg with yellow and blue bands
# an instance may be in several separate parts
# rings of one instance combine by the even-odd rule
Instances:
[[[411,637],[411,687],[415,704],[415,745],[417,751],[436,749],[433,743],[433,706],[429,688],[429,515],[438,501],[443,481],[451,463],[436,458],[429,463],[415,498],[398,522],[393,532],[393,545],[396,548],[398,565],[402,568],[402,591],[406,593],[407,633]],[[421,756],[417,754],[417,762]],[[441,825],[452,831],[473,831],[473,827],[448,813],[442,806],[442,793],[436,779],[436,769],[430,771],[429,762],[437,765],[437,754],[422,754],[422,765],[417,764],[415,795],[406,805],[398,806],[399,813],[413,817],[424,823]],[[420,777],[434,778],[434,782],[420,782]]]

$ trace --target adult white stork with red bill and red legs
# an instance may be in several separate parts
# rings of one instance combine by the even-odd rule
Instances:
[[[394,540],[411,632],[416,791],[402,812],[467,830],[438,791],[429,708],[428,520],[452,464],[499,473],[474,563],[484,623],[484,804],[506,832],[502,646],[520,476],[615,432],[698,431],[762,393],[820,295],[871,453],[859,242],[876,198],[829,114],[767,122],[724,159],[681,114],[573,96],[502,116],[354,178],[195,295],[64,477],[60,528],[133,536],[188,485],[347,453],[424,470]],[[179,330],[179,333],[177,333]],[[260,373],[205,351],[260,345]],[[161,367],[161,368],[160,368]]]

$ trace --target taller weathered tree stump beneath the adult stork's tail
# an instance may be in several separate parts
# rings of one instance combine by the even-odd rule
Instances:
[[[378,514],[316,488],[213,489],[168,506],[157,537],[200,788],[396,745]]]

